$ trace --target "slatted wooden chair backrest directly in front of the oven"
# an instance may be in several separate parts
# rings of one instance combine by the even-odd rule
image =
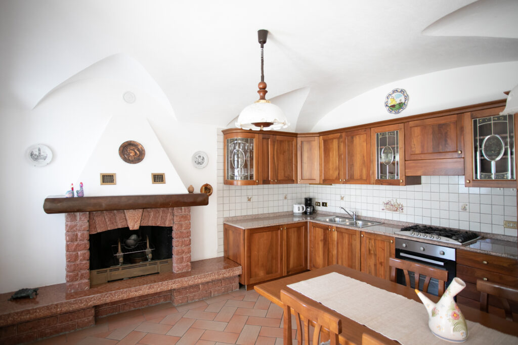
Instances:
[[[423,291],[428,291],[428,284],[430,283],[431,278],[435,278],[439,280],[439,297],[444,293],[444,285],[448,280],[448,271],[444,269],[440,269],[433,266],[428,266],[424,264],[420,264],[413,261],[401,260],[396,258],[389,259],[390,270],[390,280],[396,282],[396,268],[402,269],[405,274],[405,282],[407,287],[410,287],[410,276],[408,272],[414,273],[414,287],[419,290],[419,276],[426,276]]]

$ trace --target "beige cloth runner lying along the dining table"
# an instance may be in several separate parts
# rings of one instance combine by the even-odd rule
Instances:
[[[401,344],[449,344],[428,328],[422,303],[333,272],[287,287]],[[462,311],[462,306],[461,306]],[[518,338],[466,320],[465,344],[517,344]]]

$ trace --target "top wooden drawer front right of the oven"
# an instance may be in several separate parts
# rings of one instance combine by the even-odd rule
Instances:
[[[457,264],[518,277],[518,260],[457,250]]]

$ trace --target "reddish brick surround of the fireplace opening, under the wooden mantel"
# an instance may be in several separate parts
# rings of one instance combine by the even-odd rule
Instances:
[[[191,269],[191,207],[75,212],[65,218],[66,292],[90,288],[91,234],[140,226],[172,228],[172,272]]]

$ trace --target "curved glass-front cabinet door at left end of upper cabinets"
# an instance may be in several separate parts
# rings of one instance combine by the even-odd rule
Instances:
[[[256,185],[258,136],[254,133],[224,135],[224,183],[226,185]]]

